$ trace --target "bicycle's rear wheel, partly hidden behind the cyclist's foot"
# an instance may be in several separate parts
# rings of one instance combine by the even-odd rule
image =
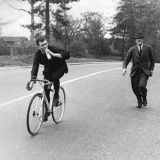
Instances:
[[[63,87],[59,89],[59,104],[52,106],[52,118],[55,123],[59,123],[63,117],[66,105],[66,94]]]

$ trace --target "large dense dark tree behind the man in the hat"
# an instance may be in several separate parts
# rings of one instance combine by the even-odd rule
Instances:
[[[155,59],[160,62],[159,0],[121,0],[114,22],[115,27],[110,31],[114,46],[121,52],[122,59],[135,43],[135,33],[142,31],[145,43],[152,46]]]

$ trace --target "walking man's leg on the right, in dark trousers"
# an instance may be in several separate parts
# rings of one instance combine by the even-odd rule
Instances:
[[[140,75],[140,82],[139,82],[139,88],[143,99],[143,105],[147,105],[147,81],[149,76],[145,73],[142,73]]]

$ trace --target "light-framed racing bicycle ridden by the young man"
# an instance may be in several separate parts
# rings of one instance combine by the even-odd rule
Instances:
[[[27,87],[30,85],[31,82],[39,82],[42,87],[42,91],[33,95],[30,100],[28,110],[27,110],[27,129],[31,135],[36,135],[41,128],[42,122],[45,116],[45,107],[48,108],[49,114],[52,114],[53,121],[58,124],[64,114],[65,105],[66,105],[66,95],[65,90],[62,86],[59,89],[59,103],[56,106],[53,106],[53,82],[50,82],[46,79],[39,80],[34,79],[28,82]],[[34,84],[34,83],[33,83]],[[46,93],[44,91],[44,86],[47,85],[50,89],[50,102],[46,97]],[[33,85],[31,86],[31,90]],[[46,106],[45,106],[46,105]]]

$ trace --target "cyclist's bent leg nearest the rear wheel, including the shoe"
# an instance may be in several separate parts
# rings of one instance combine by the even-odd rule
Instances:
[[[57,105],[57,103],[59,102],[60,78],[63,77],[63,75],[64,72],[61,69],[58,69],[52,74],[52,80],[54,82],[54,90],[55,90],[53,105]]]

